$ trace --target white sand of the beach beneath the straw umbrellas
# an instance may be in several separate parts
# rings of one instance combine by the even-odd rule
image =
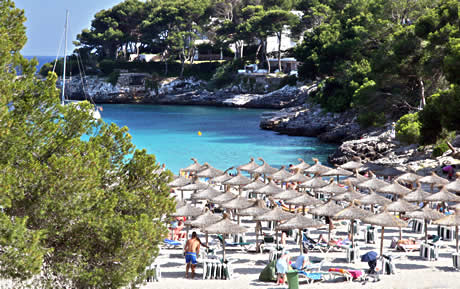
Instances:
[[[250,228],[247,233],[247,239],[249,241],[255,240],[254,235],[254,222],[250,221],[250,218],[244,220],[243,225]],[[264,222],[264,225],[266,223]],[[264,228],[267,230],[267,228]],[[346,227],[339,227],[337,230],[338,236],[345,236]],[[326,233],[325,230],[321,231]],[[314,230],[311,235],[314,237],[318,236],[319,231]],[[436,226],[429,226],[429,233],[436,234]],[[380,248],[380,228],[378,229],[376,244],[365,244],[363,240],[363,234],[358,235],[357,239],[360,243],[361,252],[364,254],[368,251],[379,252]],[[423,235],[410,233],[409,228],[403,229],[403,238],[416,237],[419,238]],[[393,263],[396,265],[395,275],[383,275],[381,276],[380,282],[367,282],[365,285],[362,282],[346,282],[341,278],[328,280],[315,284],[306,284],[301,282],[300,287],[306,288],[460,288],[460,272],[456,271],[452,267],[451,253],[454,251],[454,241],[440,241],[447,246],[440,250],[440,258],[437,261],[425,261],[419,257],[419,252],[414,251],[412,253],[397,252],[394,249],[390,249],[390,242],[392,237],[399,237],[399,230],[394,228],[385,228],[385,240],[384,240],[384,254],[391,254],[393,256],[401,256],[400,259],[396,259]],[[204,237],[200,235],[202,241]],[[288,238],[289,251],[295,257],[299,255],[299,246],[294,243],[293,238]],[[218,252],[218,254],[220,254]],[[322,268],[322,272],[327,272],[331,267],[342,267],[351,269],[368,269],[366,262],[356,261],[355,264],[346,263],[345,252],[330,252],[328,254],[320,252],[310,252],[310,256],[326,258],[326,263]],[[232,288],[232,289],[246,289],[246,288],[287,288],[287,285],[276,286],[275,283],[260,282],[258,277],[262,269],[268,263],[268,253],[255,254],[255,253],[243,253],[237,249],[227,250],[227,257],[234,258],[237,261],[233,264],[234,278],[233,280],[203,280],[202,279],[202,268],[197,268],[197,276],[195,280],[185,279],[185,264],[181,249],[162,249],[158,262],[162,264],[162,279],[159,282],[148,283],[143,286],[143,289],[147,288],[161,288],[161,289],[203,289],[203,288]]]

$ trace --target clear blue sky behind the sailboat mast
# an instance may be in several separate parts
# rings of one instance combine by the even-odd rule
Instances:
[[[27,44],[22,50],[26,56],[56,56],[63,35],[65,11],[70,12],[69,44],[84,28],[89,28],[96,12],[120,3],[122,0],[14,0],[27,17]],[[72,51],[70,46],[68,51]]]

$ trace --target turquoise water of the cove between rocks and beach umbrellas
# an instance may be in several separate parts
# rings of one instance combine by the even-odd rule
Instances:
[[[221,170],[247,163],[250,157],[280,167],[296,164],[299,157],[326,162],[336,148],[316,138],[259,129],[265,110],[138,104],[105,104],[103,109],[104,121],[128,126],[137,148],[155,154],[175,174],[192,163],[191,157]]]

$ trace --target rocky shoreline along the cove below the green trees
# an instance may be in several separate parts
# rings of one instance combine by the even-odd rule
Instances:
[[[279,109],[262,115],[260,127],[280,134],[318,137],[323,142],[340,143],[329,156],[332,164],[345,163],[353,156],[369,162],[402,170],[426,173],[444,163],[460,163],[460,136],[453,142],[457,154],[447,151],[431,158],[432,150],[405,146],[394,138],[391,123],[381,128],[361,129],[356,113],[330,113],[309,102],[310,86],[284,86],[264,94],[251,93],[242,86],[217,91],[206,90],[206,83],[194,79],[165,79],[155,89],[147,89],[145,74],[121,74],[116,85],[97,77],[86,77],[87,97],[96,103],[146,103],[171,105],[212,105],[243,108]],[[72,99],[84,99],[81,80],[73,78],[68,85]]]

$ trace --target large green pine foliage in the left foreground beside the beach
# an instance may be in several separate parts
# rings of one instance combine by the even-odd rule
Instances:
[[[134,286],[167,233],[171,173],[126,127],[95,121],[91,104],[60,104],[55,74],[37,79],[19,54],[24,21],[0,2],[0,277],[14,288]]]

